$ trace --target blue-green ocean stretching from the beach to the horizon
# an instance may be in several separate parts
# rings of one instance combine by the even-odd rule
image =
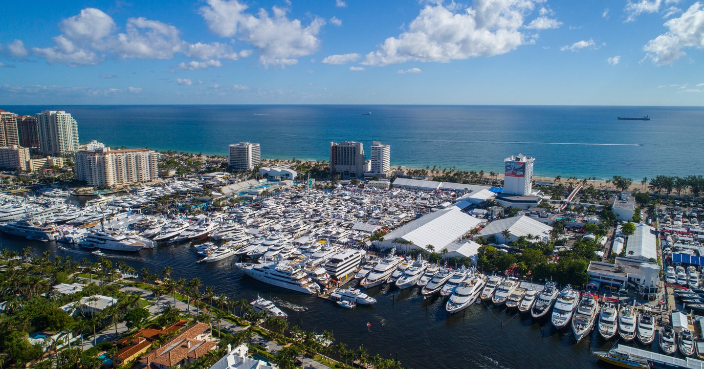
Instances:
[[[391,144],[391,165],[500,172],[536,158],[536,175],[640,180],[702,174],[704,108],[637,106],[3,106],[73,114],[82,142],[227,154],[260,142],[265,158],[325,159],[330,141]],[[371,111],[372,115],[362,115]],[[652,120],[617,120],[650,115]]]

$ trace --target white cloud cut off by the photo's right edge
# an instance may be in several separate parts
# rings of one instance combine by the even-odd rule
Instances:
[[[704,8],[696,2],[678,18],[665,22],[669,30],[651,39],[643,51],[655,64],[670,65],[686,53],[683,49],[704,49]]]

